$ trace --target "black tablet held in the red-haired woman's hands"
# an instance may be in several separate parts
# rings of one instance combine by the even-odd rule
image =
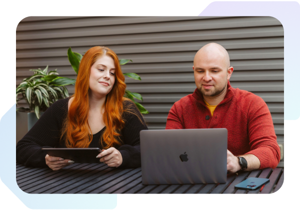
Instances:
[[[100,163],[96,156],[102,151],[99,148],[41,148],[49,156],[69,159],[75,163]]]

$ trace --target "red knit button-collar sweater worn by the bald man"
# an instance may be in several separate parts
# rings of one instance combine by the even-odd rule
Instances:
[[[197,88],[193,94],[174,103],[165,129],[195,128],[226,128],[227,149],[234,156],[255,155],[260,169],[276,168],[280,161],[280,149],[267,105],[253,93],[232,88],[229,81],[225,98],[216,106],[213,117]]]

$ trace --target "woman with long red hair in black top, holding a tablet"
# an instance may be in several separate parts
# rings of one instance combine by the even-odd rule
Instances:
[[[109,167],[140,167],[139,131],[147,130],[126,84],[117,55],[95,46],[82,57],[71,97],[54,102],[16,145],[16,161],[59,170],[73,161],[45,155],[41,148],[101,148]]]

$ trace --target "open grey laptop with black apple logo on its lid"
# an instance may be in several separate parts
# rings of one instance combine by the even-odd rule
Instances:
[[[140,131],[143,185],[226,183],[227,129]]]

